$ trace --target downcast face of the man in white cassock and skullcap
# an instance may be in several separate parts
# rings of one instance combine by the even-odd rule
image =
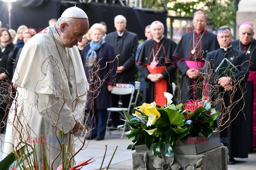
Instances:
[[[89,21],[87,19],[75,19],[75,22],[69,26],[66,23],[61,23],[60,28],[63,29],[60,35],[62,43],[71,48],[82,41],[89,29]]]

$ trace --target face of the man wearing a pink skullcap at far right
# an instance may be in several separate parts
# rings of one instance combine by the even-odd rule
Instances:
[[[242,44],[247,45],[251,43],[253,39],[253,28],[250,25],[242,25],[238,31],[239,40]]]

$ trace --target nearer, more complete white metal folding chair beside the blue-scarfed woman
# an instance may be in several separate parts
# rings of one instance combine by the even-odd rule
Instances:
[[[107,111],[108,111],[107,131],[109,132],[110,135],[111,135],[110,129],[116,129],[117,130],[117,128],[112,128],[112,127],[108,126],[108,122],[110,120],[110,115],[113,114],[113,112],[117,112],[125,120],[125,115],[124,115],[123,111],[126,111],[126,112],[130,111],[130,108],[131,108],[131,105],[132,105],[132,98],[133,98],[134,90],[135,90],[135,87],[133,86],[133,84],[117,83],[116,86],[111,91],[111,93],[115,94],[115,95],[131,95],[131,98],[130,98],[130,102],[129,102],[128,107],[110,107],[110,108],[107,108]],[[123,136],[124,136],[124,131],[125,131],[125,125],[122,128],[121,138],[123,138]]]

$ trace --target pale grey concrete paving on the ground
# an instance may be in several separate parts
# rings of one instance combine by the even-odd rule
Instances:
[[[1,137],[0,142],[2,144],[4,139],[4,134],[1,134],[0,137]],[[101,169],[105,169],[110,162],[110,159],[114,153],[115,148],[117,147],[115,155],[111,160],[111,163],[108,169],[109,170],[114,170],[114,169],[131,170],[133,151],[127,150],[126,148],[132,142],[125,137],[124,139],[121,139],[120,137],[121,135],[118,135],[118,134],[109,135],[109,133],[106,132],[106,136],[104,140],[101,140],[101,141],[86,140],[83,150],[79,151],[79,153],[75,157],[76,162],[79,163],[79,162],[82,162],[83,160],[87,160],[93,157],[93,160],[95,160],[95,162],[84,166],[82,170],[100,169],[103,156],[105,154],[106,146],[107,146],[106,157],[103,161],[102,168],[101,168]],[[76,140],[75,144],[76,144],[76,149],[81,148],[82,146],[82,142],[79,140]],[[1,145],[1,147],[3,148],[3,145]],[[0,158],[2,158],[2,152],[0,153]],[[249,158],[244,158],[244,159],[235,158],[235,159],[237,160],[237,163],[235,165],[228,165],[228,170],[256,169],[256,152],[249,154]]]

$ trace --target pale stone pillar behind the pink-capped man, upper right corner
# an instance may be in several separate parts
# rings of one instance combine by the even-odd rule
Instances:
[[[238,38],[238,29],[244,22],[251,22],[256,28],[256,1],[241,0],[238,3],[238,11],[236,12],[236,37]],[[254,29],[255,32],[255,29]],[[256,38],[254,33],[253,38]]]

